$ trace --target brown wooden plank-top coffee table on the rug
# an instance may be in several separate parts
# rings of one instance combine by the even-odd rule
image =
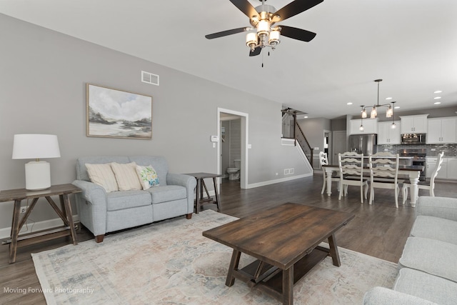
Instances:
[[[350,213],[288,203],[203,235],[233,248],[227,286],[241,279],[283,304],[293,304],[293,284],[326,256],[331,256],[334,266],[341,265],[335,232],[353,218]],[[318,246],[326,240],[329,249]],[[257,261],[238,269],[241,253]]]

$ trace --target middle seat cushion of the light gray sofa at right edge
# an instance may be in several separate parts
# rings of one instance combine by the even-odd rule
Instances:
[[[457,245],[422,237],[408,237],[399,266],[457,281]]]

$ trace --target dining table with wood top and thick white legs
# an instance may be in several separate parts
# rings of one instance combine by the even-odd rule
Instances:
[[[327,178],[327,195],[331,196],[331,178],[333,172],[339,172],[340,167],[338,164],[328,164],[323,165],[322,169],[326,171],[326,178]],[[418,199],[419,189],[418,189],[418,182],[419,176],[421,176],[421,171],[425,169],[425,166],[421,165],[399,165],[398,166],[398,175],[405,175],[408,176],[410,184],[411,184],[411,206],[414,208],[416,207],[416,202]],[[368,166],[363,167],[363,173],[370,173],[370,168]]]

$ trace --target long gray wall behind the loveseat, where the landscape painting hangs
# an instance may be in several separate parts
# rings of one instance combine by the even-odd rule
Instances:
[[[217,172],[209,139],[217,134],[218,107],[249,116],[248,184],[281,179],[290,167],[296,169],[293,176],[309,174],[298,151],[281,146],[281,104],[276,101],[3,14],[0,37],[0,189],[25,186],[29,160],[12,160],[11,151],[14,134],[26,133],[59,136],[61,158],[47,160],[51,184],[71,183],[79,156],[161,155],[172,172]],[[141,70],[159,74],[160,86],[142,83]],[[153,96],[153,139],[86,137],[86,83]],[[0,229],[11,226],[12,206],[0,205]],[[39,203],[31,218],[56,215]]]

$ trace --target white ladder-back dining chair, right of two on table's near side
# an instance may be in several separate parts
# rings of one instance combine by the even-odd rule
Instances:
[[[395,191],[395,206],[398,209],[398,154],[381,151],[368,156],[370,166],[370,201],[374,200],[374,189],[393,189]]]

